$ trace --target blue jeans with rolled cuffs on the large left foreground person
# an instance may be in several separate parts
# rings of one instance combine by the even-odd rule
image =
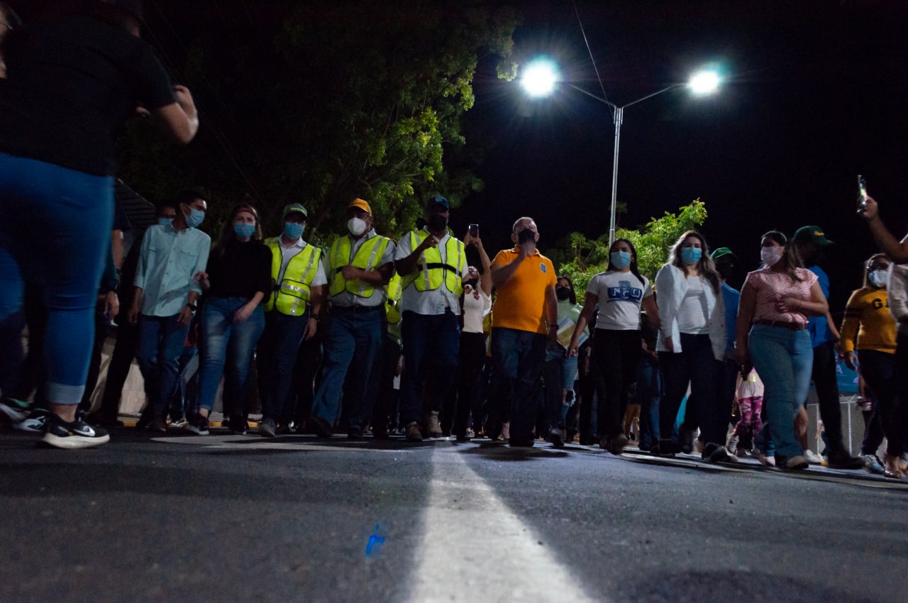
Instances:
[[[114,178],[0,153],[0,381],[22,366],[25,281],[47,309],[47,398],[78,404],[94,347],[94,305],[110,245]],[[4,392],[6,393],[6,392]]]

